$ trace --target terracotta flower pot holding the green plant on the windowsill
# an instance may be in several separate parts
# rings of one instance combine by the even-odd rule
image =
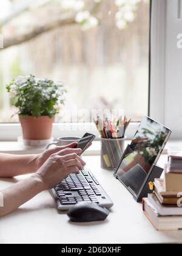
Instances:
[[[22,126],[22,135],[24,140],[49,140],[52,135],[52,124],[55,117],[40,116],[19,116],[19,122]]]

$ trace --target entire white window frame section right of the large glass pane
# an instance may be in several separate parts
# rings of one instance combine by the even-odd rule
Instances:
[[[182,1],[153,0],[150,115],[182,138]]]

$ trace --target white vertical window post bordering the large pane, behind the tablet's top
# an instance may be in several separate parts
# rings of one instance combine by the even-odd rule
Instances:
[[[149,115],[164,124],[166,0],[151,0]]]

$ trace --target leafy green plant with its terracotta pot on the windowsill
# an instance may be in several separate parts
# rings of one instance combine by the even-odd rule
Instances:
[[[65,101],[61,82],[30,75],[17,77],[6,88],[18,108],[23,139],[49,140],[58,107]]]

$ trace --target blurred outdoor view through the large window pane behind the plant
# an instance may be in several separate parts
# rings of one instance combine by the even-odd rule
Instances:
[[[63,82],[62,110],[81,110],[78,122],[84,109],[120,109],[140,121],[148,114],[149,26],[149,0],[1,0],[0,123],[18,122],[5,85],[28,74]]]

